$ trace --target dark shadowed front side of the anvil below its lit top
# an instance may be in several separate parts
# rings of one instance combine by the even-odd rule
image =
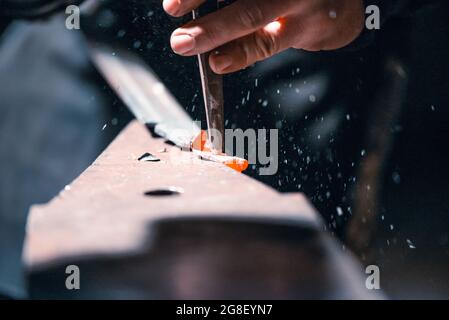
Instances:
[[[370,295],[349,255],[312,229],[165,220],[136,253],[68,257],[29,274],[32,299],[345,299]],[[339,261],[341,260],[341,261]],[[80,289],[68,290],[68,265]],[[363,286],[363,288],[362,288]]]

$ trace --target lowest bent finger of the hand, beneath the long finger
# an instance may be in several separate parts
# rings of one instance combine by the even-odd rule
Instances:
[[[210,55],[209,64],[218,74],[244,69],[289,48],[291,39],[285,31],[282,21],[272,22],[218,48]]]

